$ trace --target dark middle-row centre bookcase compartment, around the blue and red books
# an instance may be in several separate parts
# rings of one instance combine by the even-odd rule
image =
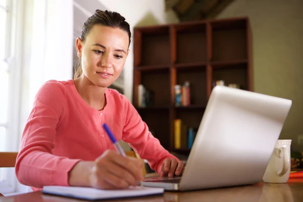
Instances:
[[[176,84],[183,85],[186,81],[189,81],[190,84],[190,105],[206,106],[207,92],[205,67],[176,69]]]

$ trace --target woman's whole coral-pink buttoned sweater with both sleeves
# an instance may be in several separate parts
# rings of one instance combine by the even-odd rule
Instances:
[[[103,123],[158,173],[165,159],[176,159],[148,131],[124,95],[107,89],[106,99],[104,110],[97,111],[84,102],[73,80],[44,83],[22,135],[16,162],[19,182],[34,191],[44,185],[68,186],[68,172],[77,162],[94,161],[106,149],[114,149]]]

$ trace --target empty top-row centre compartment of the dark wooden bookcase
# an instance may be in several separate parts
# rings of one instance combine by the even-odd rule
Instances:
[[[207,61],[206,24],[176,25],[176,56],[175,63],[195,63]]]

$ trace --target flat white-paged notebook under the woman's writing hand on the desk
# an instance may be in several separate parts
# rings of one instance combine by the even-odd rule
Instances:
[[[148,195],[163,195],[164,188],[131,186],[128,189],[104,190],[91,187],[44,186],[42,193],[61,195],[85,200],[114,199]]]

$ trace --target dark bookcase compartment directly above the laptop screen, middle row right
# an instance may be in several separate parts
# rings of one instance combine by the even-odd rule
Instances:
[[[237,83],[241,89],[248,90],[247,65],[238,64],[228,68],[213,69],[213,82],[224,80],[225,85]]]

